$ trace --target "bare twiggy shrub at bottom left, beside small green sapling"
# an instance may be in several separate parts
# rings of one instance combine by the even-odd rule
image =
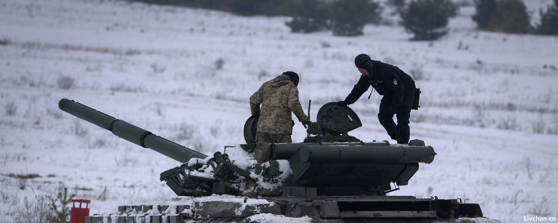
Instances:
[[[17,212],[15,223],[51,223],[55,219],[50,196],[36,196],[35,201],[29,202],[23,198],[23,209]]]

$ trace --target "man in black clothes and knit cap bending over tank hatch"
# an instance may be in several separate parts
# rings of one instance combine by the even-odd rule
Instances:
[[[342,105],[350,105],[360,98],[370,86],[383,95],[380,102],[378,119],[387,134],[397,143],[409,143],[409,118],[415,100],[415,81],[398,67],[371,60],[368,55],[360,54],[354,59],[355,66],[362,74]],[[372,93],[370,93],[372,94]],[[368,96],[370,99],[370,96]],[[397,124],[393,115],[397,115]]]

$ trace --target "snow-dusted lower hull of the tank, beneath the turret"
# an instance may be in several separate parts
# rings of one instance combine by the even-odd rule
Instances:
[[[119,206],[113,215],[89,216],[86,222],[258,222],[278,217],[286,222],[499,222],[483,217],[477,203],[413,196],[213,197],[181,205]],[[181,203],[181,200],[175,200]],[[281,219],[282,218],[282,219]],[[120,220],[119,220],[120,219]]]

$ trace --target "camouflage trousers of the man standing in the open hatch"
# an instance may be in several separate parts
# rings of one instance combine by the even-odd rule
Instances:
[[[265,163],[270,160],[270,147],[264,146],[267,143],[292,143],[291,134],[272,134],[256,133],[256,148],[254,148],[254,158],[258,163]]]

